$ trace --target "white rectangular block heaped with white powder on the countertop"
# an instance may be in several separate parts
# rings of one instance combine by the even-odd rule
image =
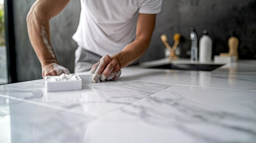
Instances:
[[[45,90],[64,91],[64,90],[81,90],[82,79],[78,75],[48,76],[45,77]]]

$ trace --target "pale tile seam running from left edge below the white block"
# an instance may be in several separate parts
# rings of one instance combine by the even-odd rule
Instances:
[[[94,115],[91,115],[92,113],[81,114],[80,112],[65,110],[65,108],[62,108],[62,107],[59,107],[59,106],[48,106],[48,105],[42,104],[40,102],[34,102],[34,101],[25,100],[25,99],[19,99],[19,98],[16,98],[16,97],[10,97],[10,96],[1,95],[1,94],[0,94],[0,97],[4,97],[4,98],[7,98],[7,99],[12,99],[12,100],[16,100],[16,101],[22,101],[22,102],[25,102],[25,103],[30,103],[30,104],[33,104],[33,105],[43,106],[43,107],[51,108],[51,109],[55,109],[55,110],[61,110],[61,111],[69,112],[69,113],[73,113],[73,114],[79,114],[79,115],[82,115],[82,116],[85,116],[85,117],[97,118],[97,114],[94,114]],[[89,115],[87,115],[87,114],[89,114]]]

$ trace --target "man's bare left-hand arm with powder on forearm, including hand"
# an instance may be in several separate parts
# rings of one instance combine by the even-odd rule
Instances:
[[[58,61],[52,48],[49,21],[61,13],[70,0],[36,0],[27,15],[27,29],[31,44],[42,65],[43,77],[69,74]]]

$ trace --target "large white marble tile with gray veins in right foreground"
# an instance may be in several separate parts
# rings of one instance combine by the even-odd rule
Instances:
[[[173,86],[92,123],[88,134],[92,143],[253,142],[255,95],[255,91]]]

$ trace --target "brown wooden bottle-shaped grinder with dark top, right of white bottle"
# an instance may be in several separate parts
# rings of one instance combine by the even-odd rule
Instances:
[[[220,53],[220,57],[227,57],[227,56],[236,56],[236,61],[238,60],[238,45],[239,40],[236,35],[236,31],[231,31],[231,37],[228,40],[229,44],[229,53]]]

